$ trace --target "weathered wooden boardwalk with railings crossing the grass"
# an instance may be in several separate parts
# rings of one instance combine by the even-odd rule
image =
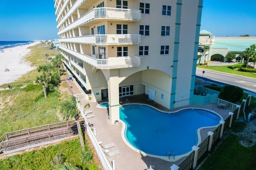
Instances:
[[[82,131],[85,132],[84,118],[79,119],[79,122]],[[76,134],[78,134],[76,120],[5,133],[0,137],[0,153]]]

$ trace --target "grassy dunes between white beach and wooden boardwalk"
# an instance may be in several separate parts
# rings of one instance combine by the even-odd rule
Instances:
[[[44,43],[29,47],[31,51],[25,57],[26,61],[32,62],[30,64],[34,64],[35,68],[45,64],[45,54],[57,54],[55,50],[49,50],[49,47]],[[24,91],[21,88],[23,83],[33,83],[39,74],[36,70],[32,70],[10,83],[12,89],[0,91],[0,136],[11,131],[61,121],[56,113],[60,101],[60,92],[57,88],[53,94],[48,94],[46,99],[43,96],[42,86],[38,85],[38,90],[33,91]],[[0,88],[6,86],[7,84],[3,84]]]

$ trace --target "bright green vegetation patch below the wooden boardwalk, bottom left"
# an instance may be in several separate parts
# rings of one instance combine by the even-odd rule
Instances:
[[[88,148],[88,146],[86,146]],[[79,139],[62,141],[58,145],[33,150],[0,160],[1,170],[54,170],[56,163],[68,162],[83,170],[97,170],[94,161],[84,162]],[[60,159],[61,155],[61,159]],[[90,167],[90,168],[89,168]]]

